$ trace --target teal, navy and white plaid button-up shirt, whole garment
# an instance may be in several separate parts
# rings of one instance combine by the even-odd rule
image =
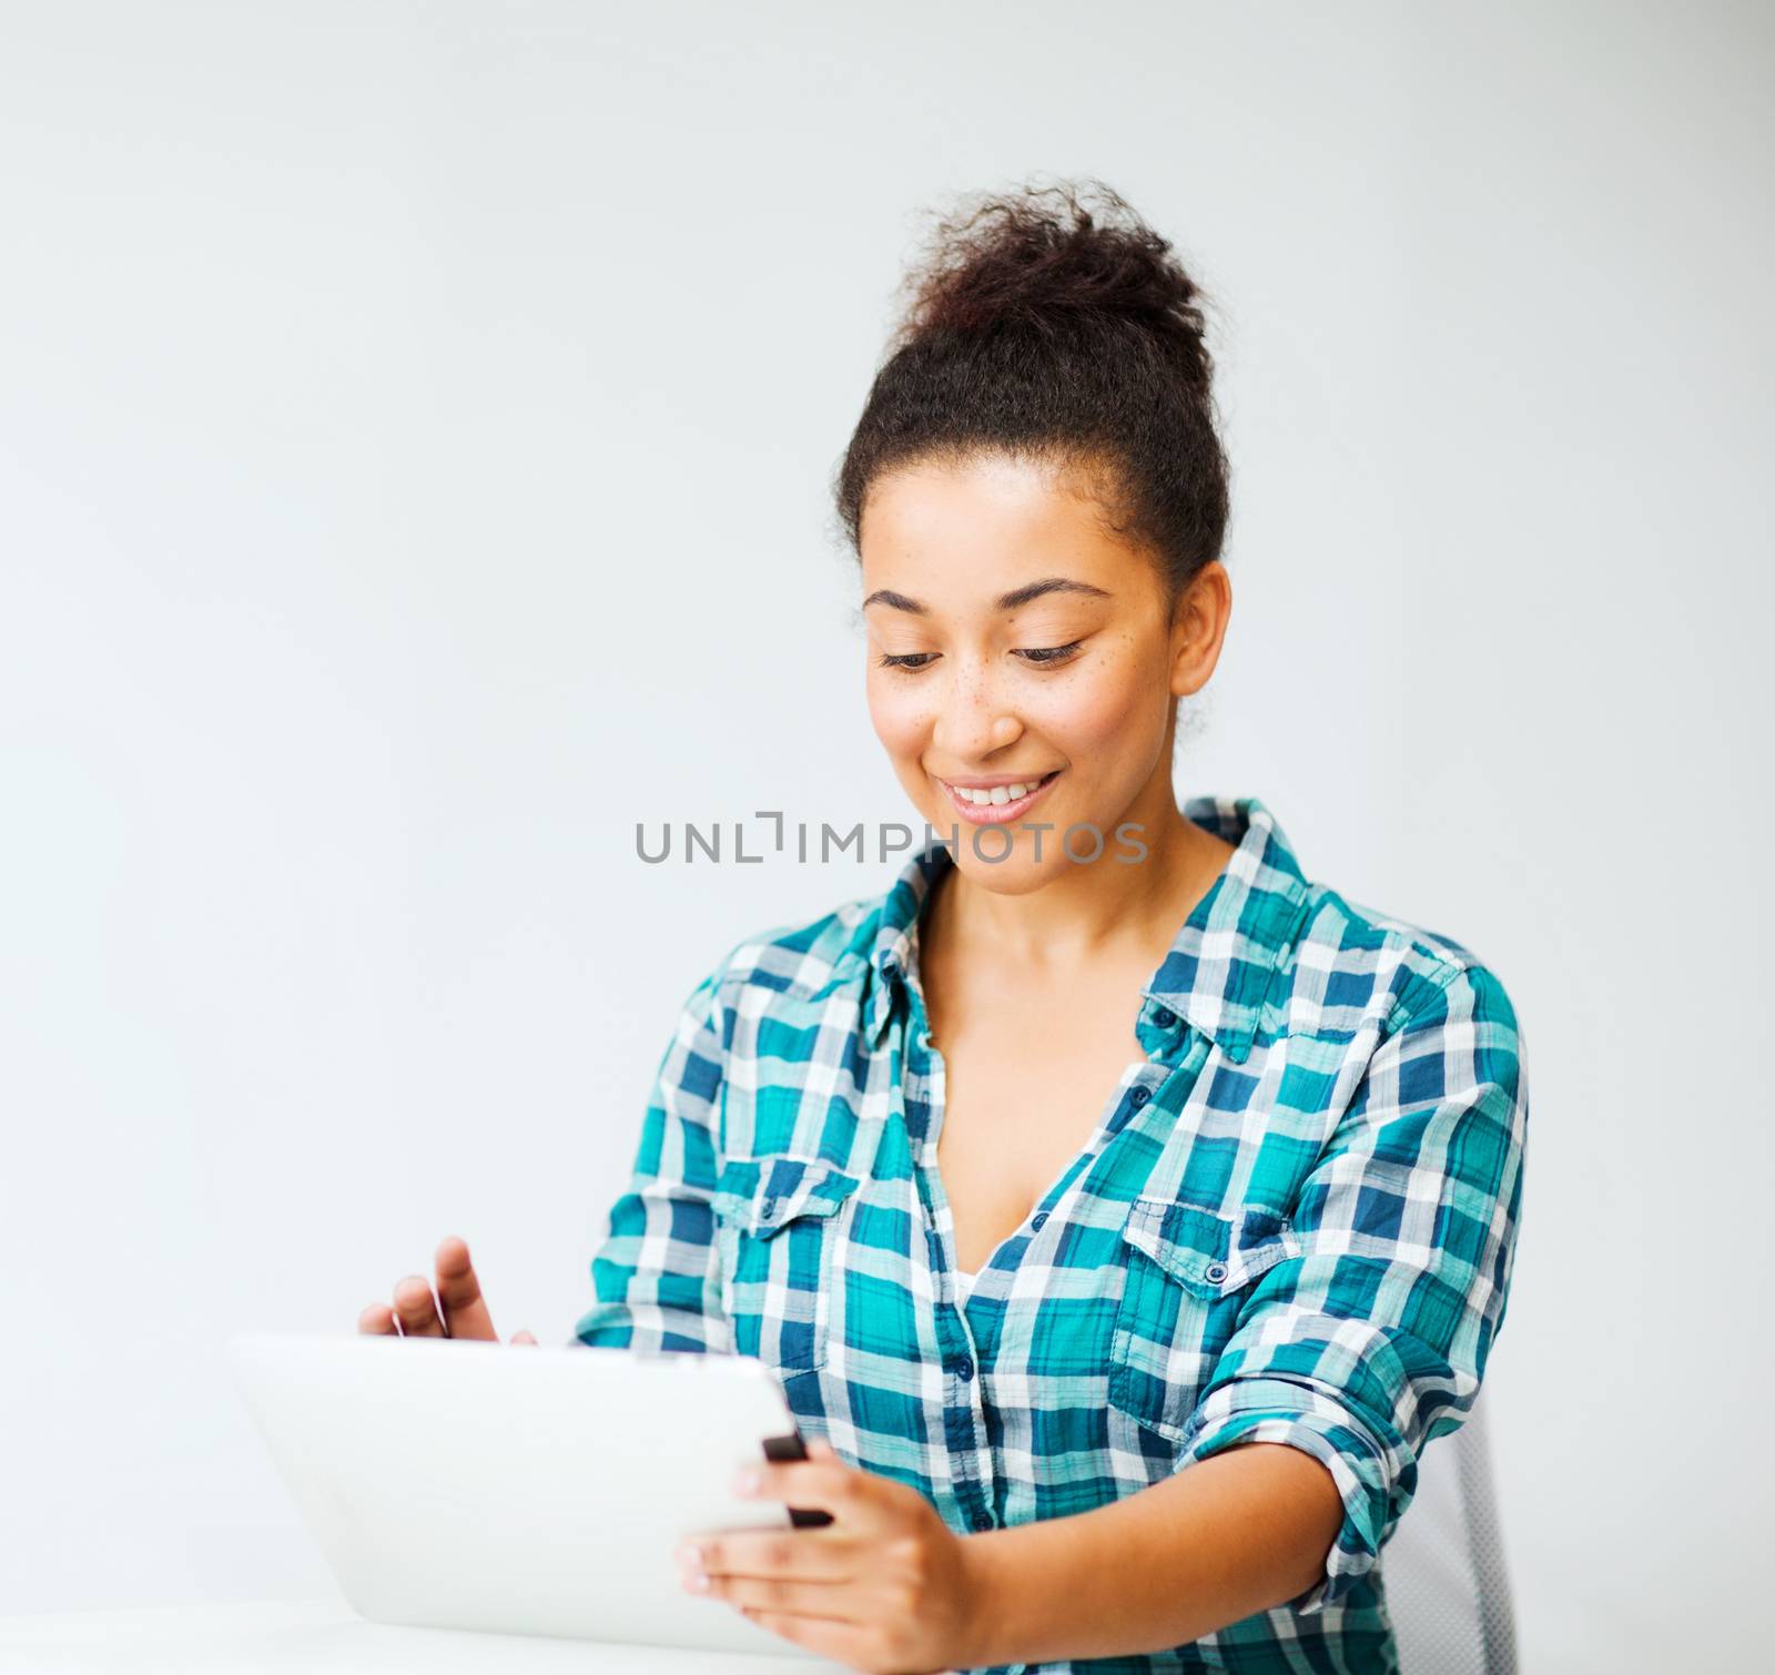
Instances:
[[[698,985],[575,1336],[763,1359],[804,1435],[957,1531],[1086,1512],[1239,1439],[1303,1448],[1344,1496],[1306,1593],[1035,1668],[1388,1671],[1377,1554],[1503,1324],[1516,1017],[1459,944],[1308,884],[1255,798],[1184,813],[1237,850],[1138,995],[1147,1056],[966,1301],[916,958],[937,843]]]

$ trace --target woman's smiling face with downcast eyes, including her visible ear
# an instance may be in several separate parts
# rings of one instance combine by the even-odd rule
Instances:
[[[958,829],[962,871],[999,893],[1079,871],[1095,834],[1131,859],[1177,820],[1173,697],[1214,671],[1227,573],[1209,564],[1168,619],[1154,561],[1099,520],[1053,467],[1003,454],[905,467],[864,504],[870,720],[932,830]],[[982,806],[994,786],[1008,800]]]

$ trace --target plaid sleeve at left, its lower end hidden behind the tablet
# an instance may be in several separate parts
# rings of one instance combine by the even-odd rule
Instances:
[[[596,1302],[573,1327],[602,1349],[731,1349],[712,1196],[728,1020],[726,962],[692,990],[659,1061],[628,1185],[591,1258]]]

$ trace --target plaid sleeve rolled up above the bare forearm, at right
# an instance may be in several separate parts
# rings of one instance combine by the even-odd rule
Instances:
[[[1509,997],[1450,967],[1388,1026],[1290,1212],[1298,1253],[1253,1286],[1177,1460],[1287,1443],[1326,1466],[1344,1522],[1298,1613],[1369,1572],[1425,1444],[1464,1423],[1516,1254],[1528,1089]]]

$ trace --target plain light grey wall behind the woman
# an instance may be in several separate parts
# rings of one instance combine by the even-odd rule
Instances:
[[[0,1609],[325,1572],[225,1380],[449,1231],[564,1338],[678,1003],[889,868],[825,488],[919,206],[1097,174],[1216,298],[1184,793],[1503,976],[1532,1670],[1764,1620],[1754,5],[9,4]]]

